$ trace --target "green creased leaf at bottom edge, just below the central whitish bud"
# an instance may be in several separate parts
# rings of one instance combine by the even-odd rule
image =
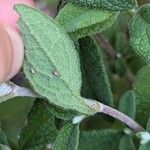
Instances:
[[[58,133],[54,150],[77,150],[79,141],[79,124],[67,123]]]

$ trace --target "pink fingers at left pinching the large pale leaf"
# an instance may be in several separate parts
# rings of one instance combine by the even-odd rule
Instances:
[[[18,14],[13,6],[18,3],[34,6],[32,0],[0,0],[0,83],[3,83],[20,70],[24,45],[18,33]]]

